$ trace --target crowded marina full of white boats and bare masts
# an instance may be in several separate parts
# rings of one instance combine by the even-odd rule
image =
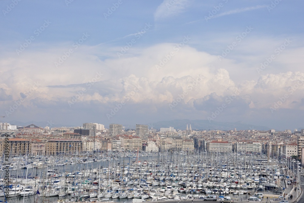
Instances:
[[[9,165],[9,194],[0,193],[0,200],[203,200],[214,194],[217,198],[231,196],[235,201],[248,201],[261,193],[269,201],[281,201],[301,192],[295,189],[299,182],[295,166],[301,167],[288,157],[240,153],[15,156]],[[4,168],[2,165],[2,177]]]

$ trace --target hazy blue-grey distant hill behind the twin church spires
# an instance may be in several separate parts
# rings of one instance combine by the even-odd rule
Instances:
[[[188,127],[192,130],[269,130],[269,127],[266,126],[255,126],[246,124],[243,122],[216,122],[209,120],[170,120],[170,121],[159,121],[153,124],[149,124],[149,128],[153,127],[154,129],[160,129],[161,127],[174,127],[174,129],[182,129],[185,130],[188,123]]]

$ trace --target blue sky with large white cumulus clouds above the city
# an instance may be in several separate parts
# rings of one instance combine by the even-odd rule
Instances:
[[[2,121],[304,127],[303,4],[0,1]]]

